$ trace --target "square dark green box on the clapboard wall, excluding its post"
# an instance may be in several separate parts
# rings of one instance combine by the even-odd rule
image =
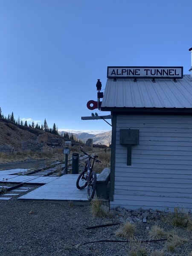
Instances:
[[[138,145],[139,132],[137,129],[120,129],[120,144],[122,145]]]

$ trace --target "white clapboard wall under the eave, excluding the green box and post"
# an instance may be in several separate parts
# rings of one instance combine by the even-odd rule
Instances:
[[[139,145],[119,144],[119,130],[140,130]],[[192,116],[117,115],[111,208],[192,209]]]

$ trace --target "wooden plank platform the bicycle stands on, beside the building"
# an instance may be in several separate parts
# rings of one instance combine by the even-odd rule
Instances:
[[[18,199],[88,202],[87,188],[82,190],[76,188],[78,176],[78,174],[63,175]]]

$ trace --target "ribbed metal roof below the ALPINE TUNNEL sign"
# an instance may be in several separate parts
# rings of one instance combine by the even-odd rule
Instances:
[[[192,108],[192,77],[183,79],[108,79],[102,108]]]

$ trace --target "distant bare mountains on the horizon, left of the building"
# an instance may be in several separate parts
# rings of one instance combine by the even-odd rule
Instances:
[[[66,131],[59,131],[60,135],[66,133]],[[69,137],[72,133],[68,132]],[[78,140],[82,140],[83,142],[86,142],[88,139],[93,139],[94,144],[102,144],[102,145],[109,145],[111,144],[111,131],[106,131],[100,134],[89,134],[86,132],[82,133],[73,133],[73,136],[77,137]]]

